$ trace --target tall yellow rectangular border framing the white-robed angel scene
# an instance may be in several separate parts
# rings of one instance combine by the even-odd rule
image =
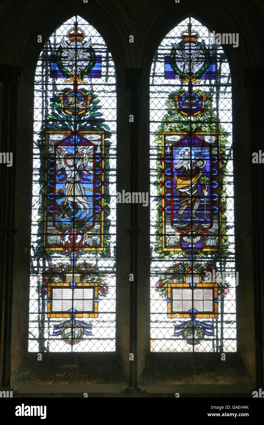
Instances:
[[[45,152],[46,152],[46,158],[48,158],[48,135],[49,134],[73,134],[71,131],[67,131],[67,130],[47,130],[46,131],[46,147],[45,147]],[[79,131],[79,134],[102,134],[102,157],[105,154],[105,133],[103,130],[94,130],[94,131],[89,131],[89,130],[82,130]],[[63,139],[62,139],[63,140]],[[45,169],[47,170],[47,162],[48,160],[46,159],[45,161]],[[105,161],[102,159],[102,169],[104,170],[105,167]],[[45,182],[47,181],[47,172],[45,172]],[[104,173],[102,173],[102,182],[104,181]],[[46,193],[46,185],[45,185],[45,195],[47,195]],[[102,185],[102,195],[104,195],[104,185]],[[64,249],[62,247],[48,247],[47,246],[47,219],[46,219],[46,214],[47,212],[45,211],[45,207],[47,207],[46,205],[47,202],[47,196],[45,196],[44,198],[44,238],[43,238],[43,249],[45,249],[46,251],[64,251]],[[102,196],[102,207],[104,207],[104,198]],[[102,210],[101,212],[101,225],[102,225],[102,231],[101,231],[101,245],[99,247],[96,246],[91,246],[91,247],[86,247],[83,249],[83,251],[102,251],[103,247],[104,247],[104,211]],[[58,231],[59,232],[59,231]],[[58,233],[59,234],[59,233]]]

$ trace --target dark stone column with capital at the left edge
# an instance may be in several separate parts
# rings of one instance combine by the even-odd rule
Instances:
[[[0,386],[10,386],[17,85],[23,68],[0,64]],[[21,159],[23,161],[23,159]]]

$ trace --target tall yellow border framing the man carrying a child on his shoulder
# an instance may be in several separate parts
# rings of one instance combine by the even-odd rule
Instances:
[[[164,148],[165,148],[165,136],[169,136],[169,135],[179,135],[179,136],[187,136],[188,134],[185,131],[162,131],[162,156],[165,156],[164,153]],[[218,148],[219,148],[219,154],[220,154],[220,133],[219,131],[197,131],[197,133],[195,133],[195,136],[199,136],[199,135],[208,135],[208,136],[218,136]],[[162,162],[162,170],[165,169],[165,161]],[[220,161],[218,161],[218,171],[221,170],[220,167]],[[220,173],[219,173],[219,178],[218,178],[218,182],[219,182],[219,188],[220,188]],[[165,174],[162,173],[162,195],[165,195]],[[182,251],[181,248],[176,248],[176,247],[172,247],[172,248],[166,248],[165,247],[165,242],[166,242],[166,235],[165,235],[165,211],[164,211],[164,207],[165,207],[165,199],[164,197],[162,197],[162,250],[163,251]],[[221,227],[222,227],[222,219],[221,219],[221,193],[219,194],[219,248],[204,248],[203,251],[221,251],[222,249],[222,238],[221,238]],[[180,232],[179,232],[180,234]]]

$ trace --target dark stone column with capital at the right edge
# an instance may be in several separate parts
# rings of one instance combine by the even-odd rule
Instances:
[[[244,85],[249,89],[250,150],[264,153],[264,67],[247,68],[243,71]],[[264,158],[258,164],[251,164],[252,181],[252,237],[253,237],[253,278],[255,316],[255,360],[256,388],[263,388],[263,329],[264,329],[264,285],[263,285],[263,227],[264,227]]]

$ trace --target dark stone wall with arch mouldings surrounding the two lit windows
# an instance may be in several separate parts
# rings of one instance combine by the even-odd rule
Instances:
[[[244,0],[233,2],[227,0],[221,2],[180,0],[180,3],[175,3],[173,0],[144,2],[136,0],[133,3],[125,0],[107,2],[95,0],[89,1],[89,3],[83,3],[82,0],[75,2],[69,0],[57,2],[10,0],[2,3],[0,10],[3,23],[1,37],[4,42],[0,46],[1,61],[21,65],[26,70],[20,81],[18,92],[15,209],[15,227],[18,232],[15,236],[14,253],[13,377],[27,353],[34,71],[42,49],[42,44],[37,43],[37,36],[42,35],[43,42],[45,42],[58,26],[75,14],[81,15],[97,28],[104,37],[116,65],[117,167],[119,170],[117,191],[129,190],[130,187],[128,173],[130,168],[129,135],[131,127],[128,119],[130,99],[129,92],[125,88],[125,69],[138,67],[143,70],[138,92],[138,190],[147,192],[149,190],[149,73],[156,48],[170,29],[189,14],[204,23],[211,31],[239,33],[239,47],[232,48],[227,45],[224,46],[224,50],[229,60],[233,83],[236,270],[239,272],[237,287],[238,353],[254,381],[255,334],[252,271],[254,239],[251,233],[253,227],[250,195],[252,193],[250,175],[252,152],[249,143],[250,116],[248,111],[250,93],[244,89],[242,71],[244,68],[263,66],[261,37],[264,9],[263,3],[256,0],[247,2]],[[128,41],[130,34],[134,35],[134,43]],[[128,280],[130,273],[129,234],[127,232],[130,227],[130,207],[128,205],[117,204],[117,221],[119,223],[116,258],[117,354],[121,362],[121,369],[125,370],[128,375],[130,285]],[[141,232],[138,246],[138,375],[140,376],[146,360],[148,359],[150,363],[152,361],[152,357],[149,357],[149,208],[139,207],[139,228]],[[173,362],[178,362],[178,364],[184,362],[182,356],[173,353],[172,356],[170,358],[173,358]],[[162,357],[159,358],[162,359]],[[196,364],[199,367],[203,360],[197,359],[198,357],[196,357]],[[211,362],[215,361],[212,357],[210,359]],[[78,362],[78,359],[76,361]],[[155,367],[159,366],[159,360],[157,362]],[[163,360],[160,361],[160,363],[162,362]],[[148,373],[153,373],[151,367],[150,364],[149,369],[143,373],[144,385],[150,382]],[[224,371],[222,373],[224,376]],[[122,374],[121,371],[120,374]],[[186,380],[188,382],[189,379],[191,383],[192,381],[188,377],[188,368],[186,367]],[[169,381],[168,373],[166,382]],[[197,384],[202,382],[199,379],[196,381]],[[173,382],[175,382],[174,379]]]

